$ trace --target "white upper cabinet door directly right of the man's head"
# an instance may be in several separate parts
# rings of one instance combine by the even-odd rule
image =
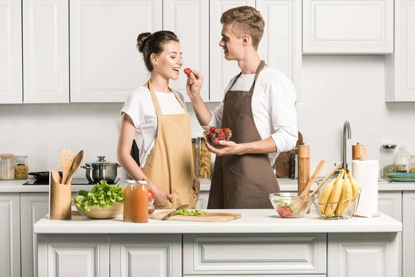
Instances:
[[[265,20],[259,56],[269,66],[293,81],[297,101],[301,101],[302,6],[297,0],[259,0],[257,10]]]

